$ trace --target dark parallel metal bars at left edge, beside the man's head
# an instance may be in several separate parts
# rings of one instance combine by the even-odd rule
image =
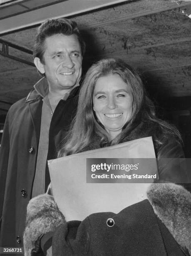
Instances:
[[[25,52],[25,53],[30,54],[30,55],[33,55],[33,51],[31,51],[27,48],[24,48],[22,46],[19,46],[19,45],[10,43],[8,41],[5,41],[3,39],[0,39],[0,44],[2,44],[2,50],[0,50],[0,55],[3,55],[7,58],[14,59],[16,61],[19,61],[19,62],[22,62],[22,63],[25,63],[25,64],[28,64],[30,66],[35,67],[35,64],[33,62],[26,61],[25,59],[21,59],[21,58],[15,57],[13,55],[10,55],[9,54],[9,47],[17,49],[17,50],[22,51],[22,52]]]

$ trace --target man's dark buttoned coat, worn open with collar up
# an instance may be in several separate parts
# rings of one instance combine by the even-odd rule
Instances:
[[[57,156],[61,138],[75,114],[78,87],[60,100],[49,131],[48,158]],[[31,199],[40,137],[42,97],[35,90],[8,112],[0,147],[0,246],[22,247],[26,209]],[[46,166],[45,189],[50,182]]]

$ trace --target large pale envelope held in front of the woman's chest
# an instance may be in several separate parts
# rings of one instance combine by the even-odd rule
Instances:
[[[83,220],[95,212],[118,213],[146,198],[149,183],[87,183],[86,159],[155,159],[152,137],[49,160],[55,201],[67,221]],[[148,167],[149,168],[149,167]],[[157,173],[157,165],[151,173]],[[153,182],[153,181],[152,181]]]

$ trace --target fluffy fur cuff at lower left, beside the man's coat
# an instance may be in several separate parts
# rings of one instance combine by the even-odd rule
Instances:
[[[30,256],[35,241],[40,236],[65,223],[53,196],[39,195],[31,199],[27,206],[26,228],[23,236],[25,256]]]

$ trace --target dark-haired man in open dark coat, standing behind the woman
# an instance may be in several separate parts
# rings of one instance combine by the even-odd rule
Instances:
[[[47,159],[57,156],[78,100],[84,41],[75,22],[46,20],[34,63],[43,78],[11,106],[0,151],[0,246],[22,247],[26,207],[50,183]]]

